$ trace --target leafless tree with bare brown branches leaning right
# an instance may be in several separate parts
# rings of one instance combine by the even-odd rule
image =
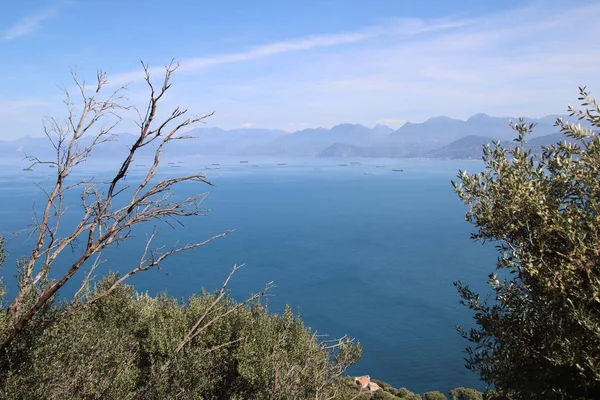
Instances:
[[[205,215],[207,212],[202,208],[205,194],[176,199],[172,192],[175,186],[184,182],[212,185],[205,176],[195,173],[159,179],[157,173],[165,148],[176,140],[192,139],[192,136],[183,132],[202,123],[212,113],[190,117],[187,110],[175,108],[166,118],[158,118],[159,105],[171,87],[171,77],[177,69],[177,64],[171,63],[165,68],[160,86],[155,86],[151,80],[148,66],[142,63],[142,67],[150,95],[146,109],[141,112],[124,104],[126,99],[123,93],[126,86],[112,90],[108,96],[105,95],[109,85],[104,72],[98,72],[95,84],[90,88],[72,71],[77,98],[73,99],[70,90],[64,89],[67,117],[64,120],[49,118],[44,121],[44,132],[55,150],[54,159],[42,160],[33,155],[26,155],[32,166],[55,166],[56,177],[52,187],[44,190],[46,198],[43,211],[36,217],[32,231],[33,250],[20,265],[18,291],[7,308],[9,323],[1,332],[0,352],[6,351],[15,337],[67,282],[76,279],[80,281],[81,286],[65,316],[108,295],[132,275],[158,267],[174,254],[202,246],[231,232],[226,231],[200,242],[175,243],[172,248],[166,250],[163,247],[153,247],[153,239],[157,234],[155,229],[147,239],[136,266],[103,292],[91,297],[79,296],[89,284],[92,271],[101,262],[102,251],[127,240],[136,226],[149,221],[170,223],[182,217]],[[123,112],[128,110],[136,112],[139,130],[112,179],[95,182],[73,178],[72,173],[88,159],[94,149],[116,138],[114,130],[121,121]],[[107,121],[110,122],[106,124]],[[145,175],[139,183],[130,185],[124,182],[136,155],[145,148],[152,149],[153,153],[152,163],[145,170]],[[64,231],[63,216],[68,206],[71,206],[66,204],[65,195],[72,191],[79,192],[82,215],[74,227],[68,228],[67,234],[61,234]],[[57,258],[71,248],[77,249],[75,260],[64,273],[55,278],[53,275],[56,271],[51,273],[56,269],[53,267]],[[87,275],[83,271],[80,272],[90,263],[90,272]],[[202,322],[199,321],[195,328]],[[195,334],[197,331],[190,331],[190,338]],[[190,338],[186,338],[184,342]],[[182,344],[185,344],[184,342]]]

